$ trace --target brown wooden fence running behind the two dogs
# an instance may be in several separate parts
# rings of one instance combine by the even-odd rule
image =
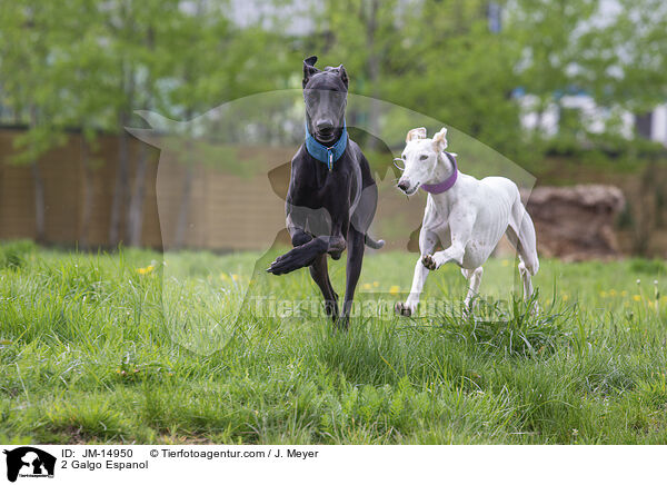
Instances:
[[[0,240],[36,237],[34,185],[29,166],[13,164],[13,148],[19,129],[0,128]],[[130,139],[130,177],[127,191],[133,187],[138,150],[142,142]],[[97,160],[92,171],[92,207],[87,239],[91,247],[107,247],[113,186],[118,170],[118,137],[98,137],[92,158]],[[211,164],[195,165],[192,190],[187,216],[185,247],[211,250],[267,249],[277,235],[288,244],[285,231],[285,194],[289,179],[289,160],[296,147],[236,147],[228,155],[233,162],[252,159],[255,175],[232,175]],[[168,150],[149,148],[148,174],[143,204],[141,245],[151,248],[172,248],[177,220],[183,204],[183,184],[187,168],[177,162]],[[191,159],[196,159],[192,155]],[[86,170],[82,162],[82,143],[79,133],[70,133],[67,141],[39,160],[44,180],[46,242],[74,246],[83,231]],[[658,174],[659,171],[659,174]],[[608,176],[585,170],[577,172],[578,182],[598,181],[619,186],[633,207],[635,218],[648,208],[656,207],[651,195],[643,184],[641,174]],[[667,170],[656,170],[661,187]],[[644,176],[645,177],[645,176]],[[650,195],[650,194],[649,194]],[[387,249],[406,249],[409,234],[419,227],[424,211],[420,198],[398,197],[387,184],[380,184],[380,199],[376,222],[371,232],[388,241]],[[419,197],[424,197],[420,195]],[[657,197],[657,198],[656,198]],[[121,220],[121,239],[125,237],[125,216]],[[658,200],[659,201],[659,200]],[[646,253],[667,256],[667,205],[657,209],[663,212],[663,227],[650,236]],[[540,239],[539,221],[538,245]],[[635,236],[634,236],[635,235]],[[640,236],[641,237],[641,236]],[[623,253],[631,253],[636,245],[636,229],[619,231]],[[411,249],[415,249],[412,234]]]

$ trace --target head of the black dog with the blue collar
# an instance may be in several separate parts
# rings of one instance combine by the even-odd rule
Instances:
[[[303,61],[303,100],[308,131],[323,145],[338,140],[345,122],[348,77],[342,65],[320,71],[317,57]]]

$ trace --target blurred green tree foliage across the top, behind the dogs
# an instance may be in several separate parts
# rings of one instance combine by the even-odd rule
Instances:
[[[667,97],[660,0],[620,1],[618,14],[598,0],[498,2],[498,32],[481,0],[307,1],[293,18],[281,13],[290,2],[276,0],[241,22],[225,0],[188,9],[177,0],[103,3],[20,0],[0,14],[2,103],[31,125],[18,161],[61,142],[66,126],[81,127],[94,143],[96,130],[122,130],[138,108],[183,119],[251,93],[298,88],[310,53],[322,65],[345,63],[354,92],[424,112],[525,161],[546,151],[633,150],[619,113]],[[295,31],[303,22],[313,28]],[[525,133],[516,88],[536,97],[538,116],[551,105],[566,113],[561,95],[586,92],[608,111],[606,128],[591,132],[573,112],[558,137]],[[399,118],[374,109],[349,116],[370,123],[382,117],[405,130]]]

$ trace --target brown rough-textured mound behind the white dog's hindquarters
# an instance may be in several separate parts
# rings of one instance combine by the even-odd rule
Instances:
[[[521,196],[528,199],[541,256],[584,260],[620,255],[614,227],[625,197],[618,187],[538,187]]]

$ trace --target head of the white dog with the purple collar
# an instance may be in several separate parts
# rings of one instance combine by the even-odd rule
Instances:
[[[398,188],[411,196],[424,184],[435,184],[440,176],[438,170],[438,160],[440,155],[447,148],[447,128],[442,128],[431,139],[426,138],[426,128],[415,128],[408,131],[406,137],[406,148],[402,151],[401,160],[405,170]]]

